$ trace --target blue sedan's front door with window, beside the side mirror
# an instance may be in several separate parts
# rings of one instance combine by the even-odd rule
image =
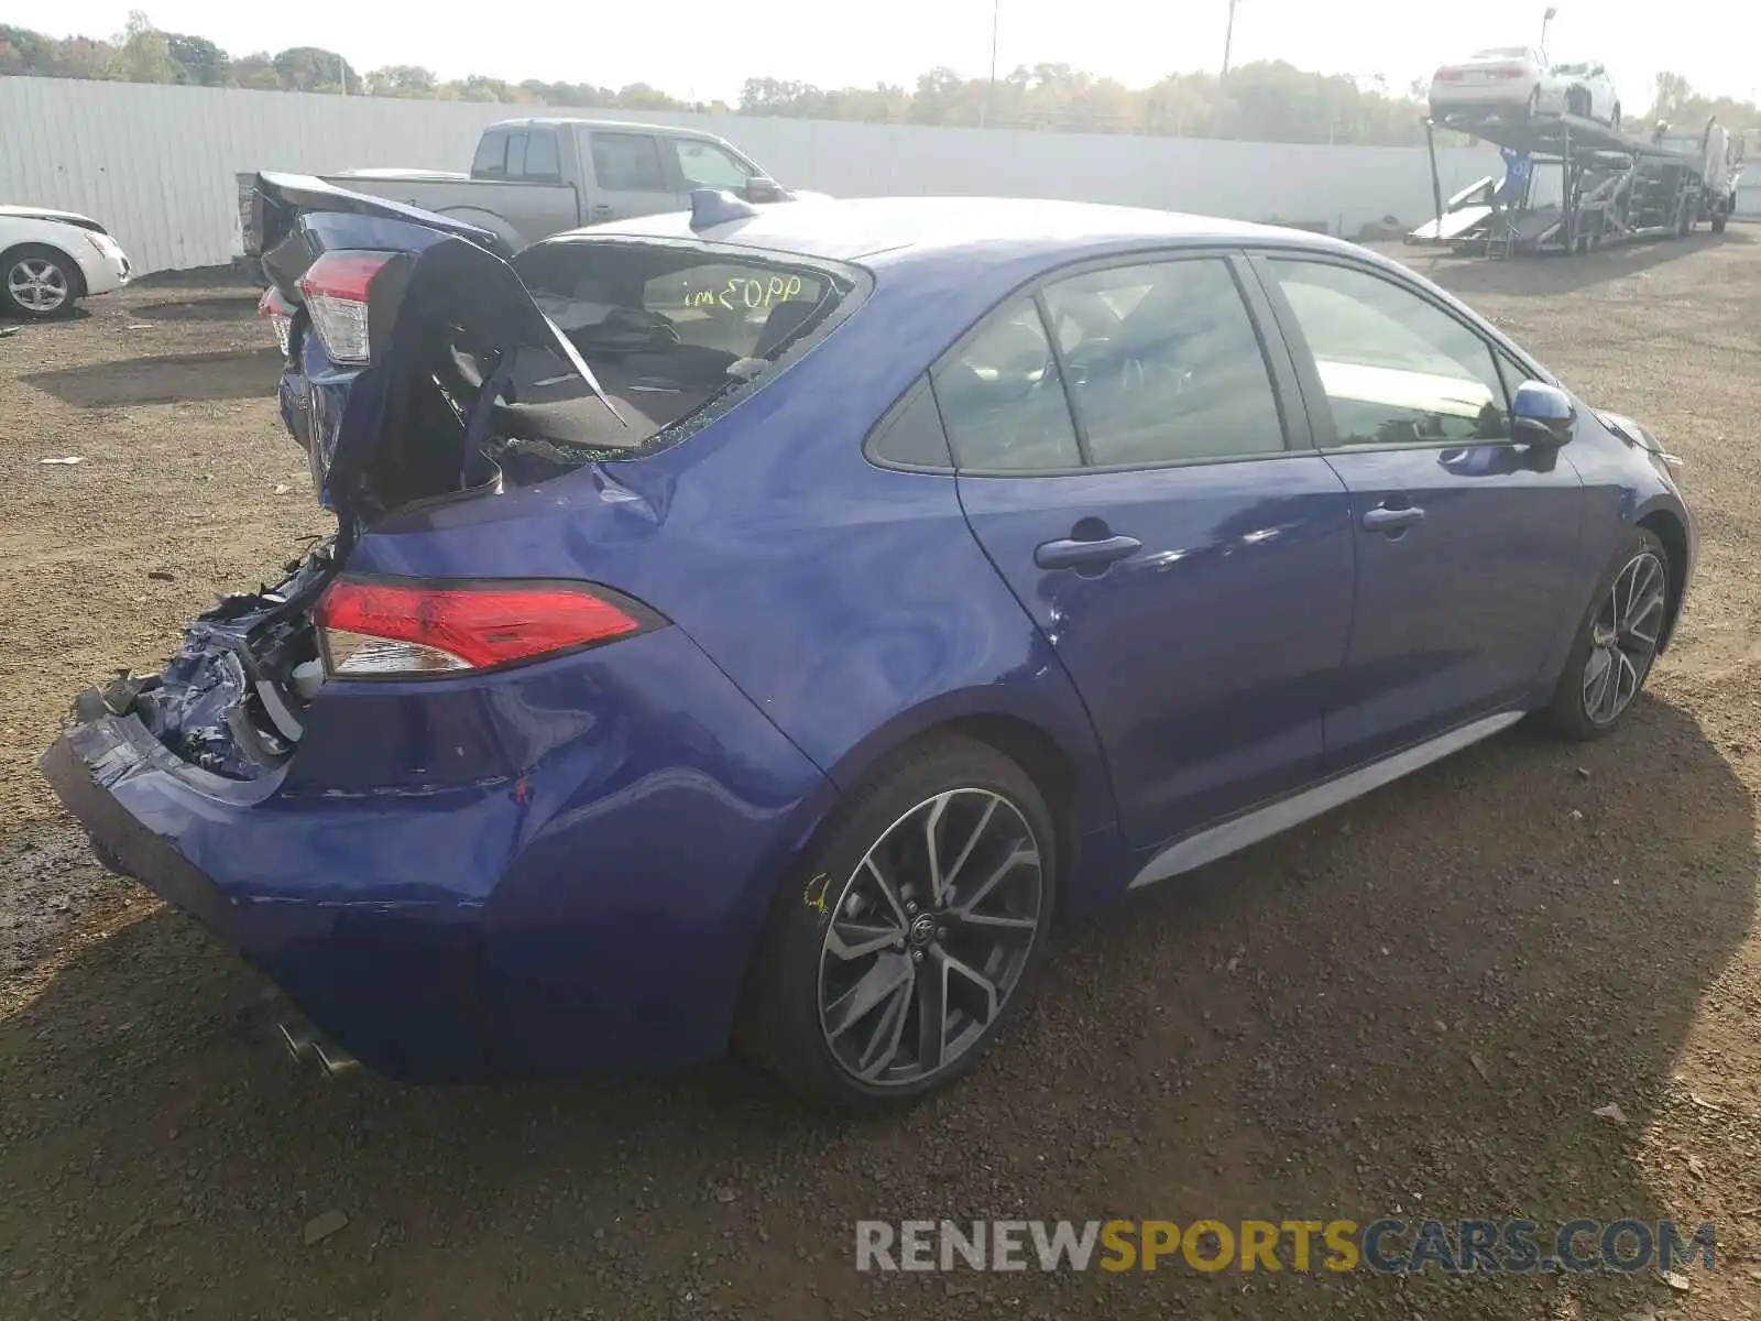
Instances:
[[[1569,451],[1513,439],[1525,372],[1453,308],[1351,259],[1256,264],[1351,490],[1358,608],[1326,740],[1330,770],[1349,770],[1543,682],[1583,483]]]

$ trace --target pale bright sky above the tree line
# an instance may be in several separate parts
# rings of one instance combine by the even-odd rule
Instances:
[[[143,0],[136,0],[141,4]],[[652,83],[678,97],[733,102],[747,77],[819,86],[910,83],[946,63],[990,70],[993,0],[655,0],[653,4],[497,0],[468,19],[447,5],[299,0],[150,0],[169,32],[224,49],[324,46],[359,69],[417,63],[442,77]],[[7,21],[58,37],[120,32],[129,4],[7,0]],[[1384,74],[1395,86],[1474,46],[1532,42],[1543,4],[1472,0],[1240,0],[1231,60],[1289,60],[1303,69]],[[453,18],[421,21],[423,12]],[[1215,70],[1227,0],[997,0],[997,70],[1064,62],[1145,86],[1168,72]],[[1555,58],[1599,58],[1629,107],[1650,104],[1661,69],[1712,93],[1754,97],[1761,16],[1754,0],[1566,0],[1548,32]]]

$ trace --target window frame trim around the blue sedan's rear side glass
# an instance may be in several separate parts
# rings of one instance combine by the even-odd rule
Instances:
[[[1315,454],[1315,435],[1312,432],[1307,400],[1301,395],[1301,380],[1296,368],[1294,354],[1286,342],[1286,336],[1277,321],[1277,308],[1266,298],[1261,289],[1261,280],[1250,271],[1250,254],[1240,243],[1182,243],[1178,247],[1150,247],[1150,248],[1131,248],[1125,252],[1109,252],[1101,257],[1083,257],[1078,261],[1055,266],[1051,269],[1041,271],[1028,280],[1014,285],[984,308],[979,317],[967,326],[953,343],[949,343],[942,352],[939,352],[930,365],[923,370],[921,377],[932,382],[935,373],[946,366],[949,361],[960,356],[967,345],[972,343],[984,329],[991,324],[991,319],[1002,314],[1006,308],[1013,306],[1021,299],[1034,303],[1039,314],[1041,328],[1046,335],[1046,342],[1051,345],[1053,358],[1058,365],[1058,384],[1064,389],[1065,407],[1071,410],[1071,424],[1076,430],[1078,451],[1088,456],[1088,437],[1083,430],[1083,423],[1078,417],[1076,400],[1071,395],[1069,377],[1064,370],[1064,351],[1058,347],[1058,336],[1051,321],[1046,315],[1044,291],[1064,280],[1076,278],[1079,275],[1090,275],[1094,271],[1109,269],[1129,269],[1132,266],[1160,266],[1175,261],[1222,261],[1224,268],[1229,271],[1231,280],[1234,280],[1236,292],[1242,298],[1242,305],[1247,310],[1249,324],[1254,329],[1254,338],[1259,343],[1261,363],[1266,368],[1268,386],[1271,387],[1273,405],[1278,410],[1278,424],[1284,433],[1284,449],[1266,449],[1257,454],[1217,454],[1217,456],[1194,456],[1194,458],[1169,458],[1155,463],[1085,463],[1079,467],[1064,469],[963,469],[958,460],[954,460],[953,442],[949,440],[949,460],[953,467],[947,469],[919,469],[907,467],[903,463],[893,463],[873,453],[873,439],[880,433],[884,421],[891,416],[893,409],[900,407],[907,395],[914,389],[917,377],[912,377],[912,386],[907,386],[900,398],[888,407],[882,414],[882,421],[875,423],[863,437],[863,458],[880,469],[893,469],[898,472],[933,472],[939,476],[954,474],[960,477],[1011,477],[1016,481],[1034,479],[1034,477],[1085,477],[1092,474],[1108,472],[1159,472],[1160,469],[1190,469],[1190,467],[1210,467],[1219,463],[1266,463],[1271,460],[1284,458],[1303,458]],[[940,400],[937,400],[937,410],[940,410]],[[946,419],[942,430],[947,430]]]

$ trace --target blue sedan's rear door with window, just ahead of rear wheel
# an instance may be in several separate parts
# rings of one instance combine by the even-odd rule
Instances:
[[[1245,262],[1067,275],[932,382],[967,520],[1081,692],[1125,835],[1159,844],[1314,780],[1349,497]]]

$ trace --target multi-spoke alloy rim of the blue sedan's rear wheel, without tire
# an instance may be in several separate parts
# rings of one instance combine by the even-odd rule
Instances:
[[[819,1025],[872,1087],[970,1052],[1027,969],[1046,898],[1039,840],[998,793],[965,787],[895,821],[844,882],[819,955]]]

